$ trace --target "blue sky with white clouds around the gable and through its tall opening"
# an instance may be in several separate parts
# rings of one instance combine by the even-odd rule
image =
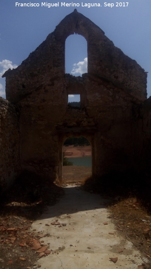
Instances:
[[[128,0],[127,0],[128,1]],[[0,96],[5,98],[5,78],[2,74],[24,61],[54,31],[56,25],[75,7],[18,7],[14,0],[0,0]],[[19,2],[20,3],[20,2]],[[30,3],[22,1],[21,3]],[[52,1],[51,3],[58,3]],[[137,61],[148,73],[147,93],[151,95],[151,0],[130,0],[127,6],[104,6],[103,1],[66,1],[79,3],[77,11],[98,25],[105,35],[127,56]],[[82,4],[83,3],[83,4]],[[85,3],[100,3],[101,7],[82,7]],[[120,3],[120,2],[119,2]],[[86,72],[87,44],[83,37],[71,35],[66,40],[66,73]]]

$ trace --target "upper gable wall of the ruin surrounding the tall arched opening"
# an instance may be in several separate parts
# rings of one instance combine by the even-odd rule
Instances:
[[[144,70],[116,48],[97,25],[77,11],[67,15],[18,68],[4,74],[6,98],[16,103],[47,81],[51,84],[55,76],[64,75],[65,41],[74,33],[87,40],[89,74],[111,81],[142,102],[146,99],[147,74]]]

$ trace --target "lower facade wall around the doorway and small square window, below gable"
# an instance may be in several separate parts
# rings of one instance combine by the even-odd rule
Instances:
[[[89,74],[66,74],[52,82],[19,102],[22,167],[52,180],[60,178],[65,138],[83,135],[92,143],[94,175],[132,169],[137,132],[133,106],[139,107],[140,101]],[[68,107],[68,94],[75,91],[81,96],[80,109]]]

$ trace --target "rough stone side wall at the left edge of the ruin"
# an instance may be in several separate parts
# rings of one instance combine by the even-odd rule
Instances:
[[[21,171],[19,112],[0,97],[0,191],[7,189]]]

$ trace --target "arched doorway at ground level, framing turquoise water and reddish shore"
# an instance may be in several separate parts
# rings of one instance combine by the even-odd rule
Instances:
[[[92,146],[85,136],[69,136],[63,143],[63,182],[80,182],[92,175]]]

